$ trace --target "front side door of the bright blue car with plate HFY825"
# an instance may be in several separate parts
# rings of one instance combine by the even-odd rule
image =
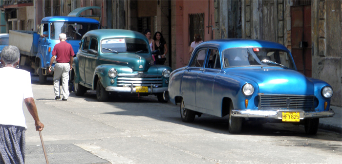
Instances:
[[[208,49],[208,55],[204,68],[201,68],[196,79],[195,97],[197,111],[205,111],[211,114],[213,111],[213,86],[217,73],[221,71],[219,51],[215,48]]]

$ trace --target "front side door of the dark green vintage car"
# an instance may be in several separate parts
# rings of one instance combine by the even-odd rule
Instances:
[[[92,51],[95,50],[95,51]],[[92,86],[93,83],[93,75],[95,68],[97,66],[97,58],[98,58],[98,41],[97,38],[91,37],[88,54],[85,60],[85,84]],[[95,52],[95,53],[94,53]]]

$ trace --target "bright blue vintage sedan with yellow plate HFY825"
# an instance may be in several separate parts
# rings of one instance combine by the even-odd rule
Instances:
[[[283,45],[262,40],[199,44],[188,66],[171,73],[168,92],[184,122],[202,113],[229,115],[230,133],[240,133],[244,120],[263,119],[304,124],[306,133],[316,134],[319,118],[334,115],[331,86],[297,72]]]

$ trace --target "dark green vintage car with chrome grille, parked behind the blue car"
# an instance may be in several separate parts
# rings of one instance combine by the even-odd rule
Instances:
[[[166,102],[171,68],[153,65],[148,39],[135,31],[101,29],[87,32],[74,58],[71,80],[77,96],[96,90],[98,101],[109,94],[154,94]]]

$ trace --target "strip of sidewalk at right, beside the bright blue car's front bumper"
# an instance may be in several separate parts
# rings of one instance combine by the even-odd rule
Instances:
[[[320,129],[342,133],[342,107],[330,106],[334,110],[333,117],[320,118]]]

